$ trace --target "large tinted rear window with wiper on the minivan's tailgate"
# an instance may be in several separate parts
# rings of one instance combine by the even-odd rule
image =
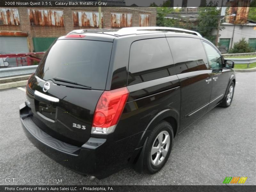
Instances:
[[[45,81],[55,82],[52,78],[59,77],[104,90],[112,44],[80,39],[58,40],[46,52],[36,75]]]

